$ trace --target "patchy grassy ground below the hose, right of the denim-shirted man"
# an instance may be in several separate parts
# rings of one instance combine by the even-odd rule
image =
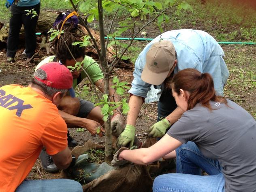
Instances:
[[[256,119],[256,58],[252,49],[253,47],[241,45],[225,52],[230,77],[224,88],[224,95]]]

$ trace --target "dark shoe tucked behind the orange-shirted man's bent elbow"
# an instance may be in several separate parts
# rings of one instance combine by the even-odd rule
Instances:
[[[42,149],[39,158],[42,162],[43,170],[48,173],[57,173],[59,168],[54,164],[50,155],[48,155],[45,149]]]

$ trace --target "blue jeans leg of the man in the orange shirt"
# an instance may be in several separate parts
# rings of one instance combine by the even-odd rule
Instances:
[[[82,186],[77,181],[70,179],[47,179],[27,180],[25,179],[15,192],[82,192]]]

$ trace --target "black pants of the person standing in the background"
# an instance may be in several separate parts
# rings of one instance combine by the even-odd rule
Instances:
[[[25,10],[34,9],[39,15],[40,3],[34,6],[11,6],[11,18],[9,26],[9,35],[7,39],[7,57],[14,58],[19,45],[19,32],[23,24],[25,29],[25,41],[26,41],[26,55],[31,58],[36,49],[36,23],[38,17],[32,17],[33,15],[26,15],[28,12]]]

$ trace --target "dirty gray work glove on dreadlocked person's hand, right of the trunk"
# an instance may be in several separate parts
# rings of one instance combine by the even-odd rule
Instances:
[[[124,131],[124,116],[117,114],[111,119],[111,130],[112,135],[119,137],[119,135]]]

